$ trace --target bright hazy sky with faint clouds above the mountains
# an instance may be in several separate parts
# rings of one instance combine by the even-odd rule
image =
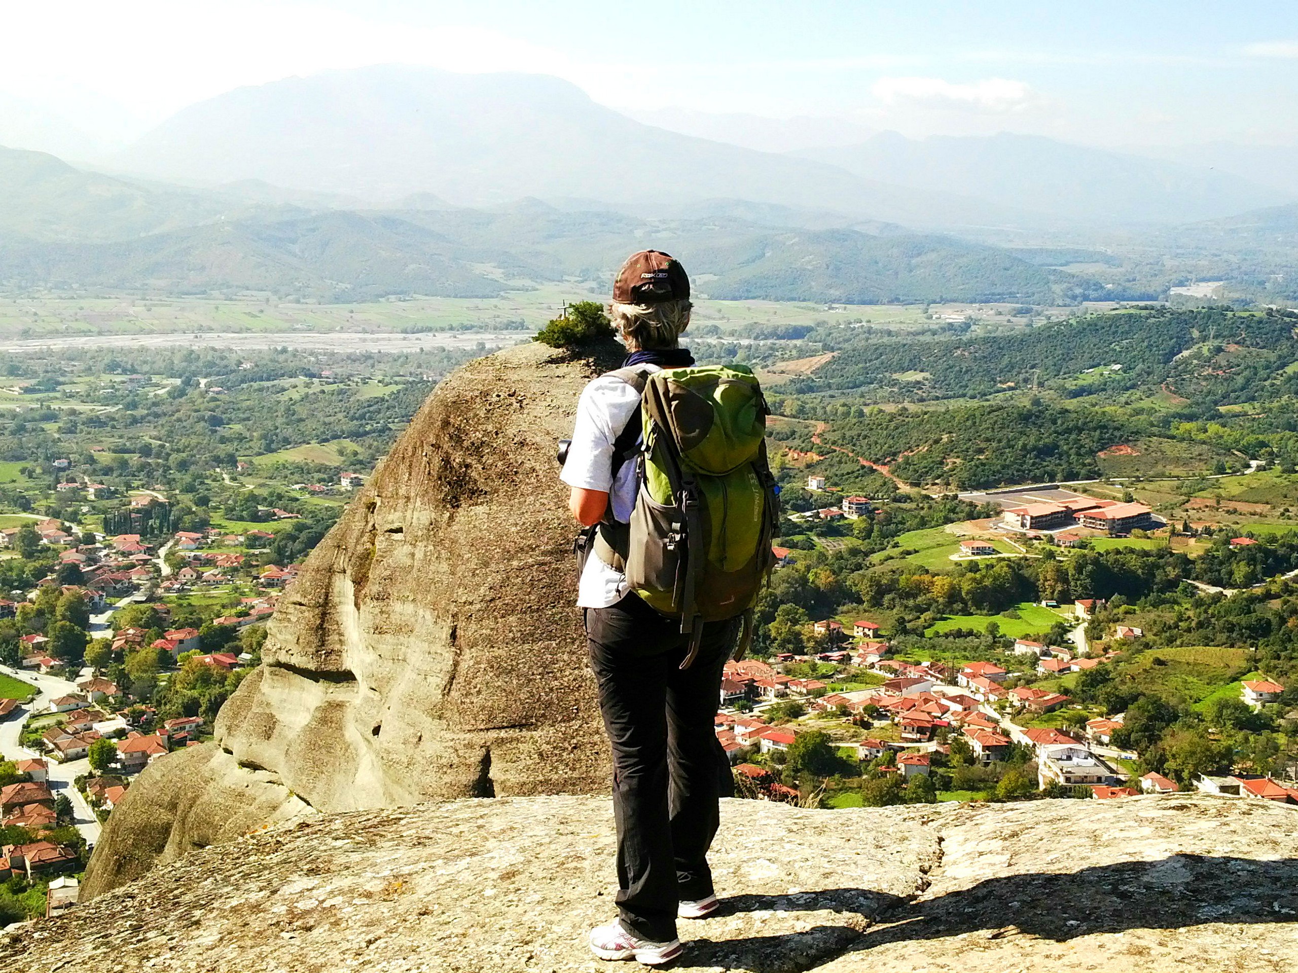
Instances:
[[[367,64],[556,74],[614,108],[909,135],[1298,143],[1298,4],[0,0],[0,95],[125,138],[240,84]]]

